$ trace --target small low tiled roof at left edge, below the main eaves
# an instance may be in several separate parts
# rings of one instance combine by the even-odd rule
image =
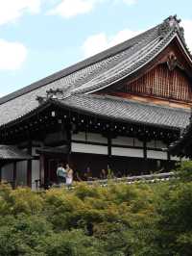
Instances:
[[[0,160],[27,160],[31,157],[12,145],[0,145]]]

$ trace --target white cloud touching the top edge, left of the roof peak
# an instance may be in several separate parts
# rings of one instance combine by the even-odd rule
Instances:
[[[69,18],[78,14],[89,13],[100,0],[62,0],[49,14],[59,14]]]

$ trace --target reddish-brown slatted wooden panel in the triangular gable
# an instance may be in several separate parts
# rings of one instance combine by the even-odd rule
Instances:
[[[132,83],[125,83],[118,91],[192,101],[192,85],[189,78],[179,67],[170,70],[167,64],[157,65]]]

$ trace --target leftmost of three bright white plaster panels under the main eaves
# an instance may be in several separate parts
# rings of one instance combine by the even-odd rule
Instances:
[[[79,153],[108,155],[108,146],[72,142],[71,151]]]

